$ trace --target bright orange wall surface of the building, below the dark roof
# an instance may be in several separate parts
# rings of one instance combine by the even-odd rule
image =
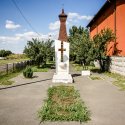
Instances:
[[[116,7],[116,43],[119,50],[118,55],[125,56],[125,1],[117,0]],[[115,31],[115,14],[114,5],[111,4],[110,8],[102,12],[102,15],[90,27],[91,38],[104,28],[110,28]],[[108,45],[108,55],[113,55],[114,52],[113,42]]]

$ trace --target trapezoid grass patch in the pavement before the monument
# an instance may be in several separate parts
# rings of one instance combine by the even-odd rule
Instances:
[[[39,110],[40,121],[79,121],[90,120],[90,112],[80,100],[73,86],[53,86],[48,89],[48,99]]]

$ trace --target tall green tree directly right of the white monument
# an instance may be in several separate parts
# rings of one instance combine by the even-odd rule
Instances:
[[[91,42],[88,29],[73,26],[69,30],[71,60],[84,66],[92,61]]]

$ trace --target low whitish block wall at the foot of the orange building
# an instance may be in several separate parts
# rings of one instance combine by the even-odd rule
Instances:
[[[125,57],[111,57],[110,71],[125,76]]]

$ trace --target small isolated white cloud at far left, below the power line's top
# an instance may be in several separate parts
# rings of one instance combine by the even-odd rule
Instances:
[[[20,28],[21,25],[19,24],[15,24],[13,21],[11,20],[6,20],[6,24],[5,24],[6,29],[17,29]]]

